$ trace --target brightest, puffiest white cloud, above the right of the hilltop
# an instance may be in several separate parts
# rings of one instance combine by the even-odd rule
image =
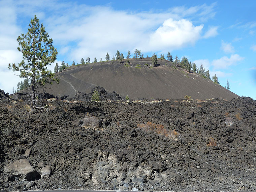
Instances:
[[[173,19],[165,20],[163,25],[150,35],[149,46],[144,49],[172,49],[181,48],[187,44],[194,44],[199,38],[203,25],[193,26],[192,22],[182,19],[174,21]]]

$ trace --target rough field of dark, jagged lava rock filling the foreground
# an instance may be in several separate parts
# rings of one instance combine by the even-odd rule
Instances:
[[[90,101],[1,92],[0,191],[106,189],[255,191],[256,101]],[[13,96],[14,97],[14,96]],[[62,98],[63,99],[63,98]],[[49,178],[20,180],[4,167],[24,158]]]

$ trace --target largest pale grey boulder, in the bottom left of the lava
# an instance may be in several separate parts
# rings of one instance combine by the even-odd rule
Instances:
[[[20,180],[36,180],[40,177],[39,173],[31,166],[28,159],[19,159],[9,163],[4,167],[4,172],[10,173]]]

